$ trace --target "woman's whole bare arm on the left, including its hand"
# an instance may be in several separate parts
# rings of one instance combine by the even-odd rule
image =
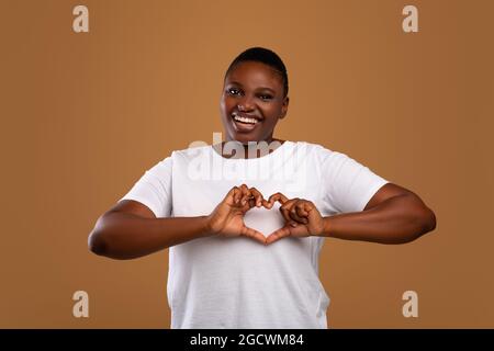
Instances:
[[[262,234],[245,226],[244,215],[265,200],[255,188],[234,186],[209,216],[156,218],[144,204],[124,200],[98,218],[89,249],[112,259],[134,259],[213,235],[247,236],[265,244]]]

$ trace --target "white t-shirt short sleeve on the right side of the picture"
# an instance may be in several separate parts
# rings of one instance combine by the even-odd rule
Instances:
[[[345,154],[324,149],[323,159],[323,202],[338,213],[363,211],[378,190],[389,183]]]

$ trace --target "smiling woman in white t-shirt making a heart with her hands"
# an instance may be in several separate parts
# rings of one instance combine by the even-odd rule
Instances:
[[[288,105],[279,56],[245,50],[224,79],[226,141],[173,151],[98,219],[97,254],[169,248],[171,328],[327,328],[325,237],[401,244],[435,228],[409,190],[344,154],[274,139]]]

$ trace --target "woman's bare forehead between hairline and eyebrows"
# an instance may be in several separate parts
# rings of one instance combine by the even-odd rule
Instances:
[[[226,77],[226,82],[229,81],[251,87],[282,87],[281,75],[270,66],[257,61],[244,61],[236,65]]]

